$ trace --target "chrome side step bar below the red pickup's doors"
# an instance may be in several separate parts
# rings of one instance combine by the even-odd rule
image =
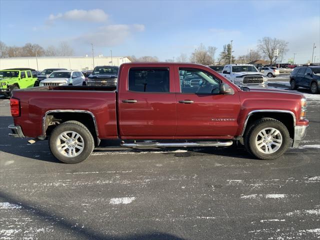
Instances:
[[[125,143],[121,142],[121,146],[125,147],[148,147],[148,146],[161,146],[161,147],[170,147],[170,146],[230,146],[232,141],[198,141],[198,142],[134,142],[134,143]]]

